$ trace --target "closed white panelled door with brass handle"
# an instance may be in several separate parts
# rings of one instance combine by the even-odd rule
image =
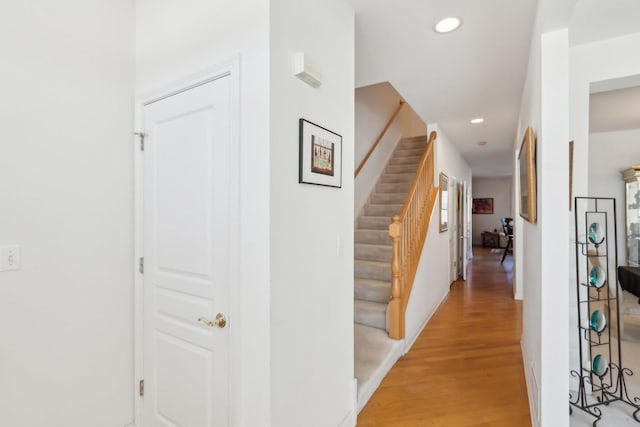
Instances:
[[[143,107],[145,427],[229,425],[230,82]]]

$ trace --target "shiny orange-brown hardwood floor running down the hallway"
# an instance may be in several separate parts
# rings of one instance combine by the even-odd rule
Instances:
[[[358,427],[530,426],[512,257],[474,247],[409,353],[358,416]]]

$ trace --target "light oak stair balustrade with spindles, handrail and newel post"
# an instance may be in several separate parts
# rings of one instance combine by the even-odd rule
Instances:
[[[393,216],[389,225],[392,252],[388,326],[389,336],[394,339],[402,339],[405,335],[405,311],[438,195],[433,178],[436,137],[436,132],[429,135],[402,211]]]

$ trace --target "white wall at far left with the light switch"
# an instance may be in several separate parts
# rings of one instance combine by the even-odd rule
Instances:
[[[0,425],[133,421],[134,7],[0,14]]]

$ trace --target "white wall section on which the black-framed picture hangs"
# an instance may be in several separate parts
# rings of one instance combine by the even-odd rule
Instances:
[[[353,425],[354,12],[270,3],[271,424]],[[322,86],[293,75],[295,52]],[[300,118],[342,135],[342,188],[298,184]]]

